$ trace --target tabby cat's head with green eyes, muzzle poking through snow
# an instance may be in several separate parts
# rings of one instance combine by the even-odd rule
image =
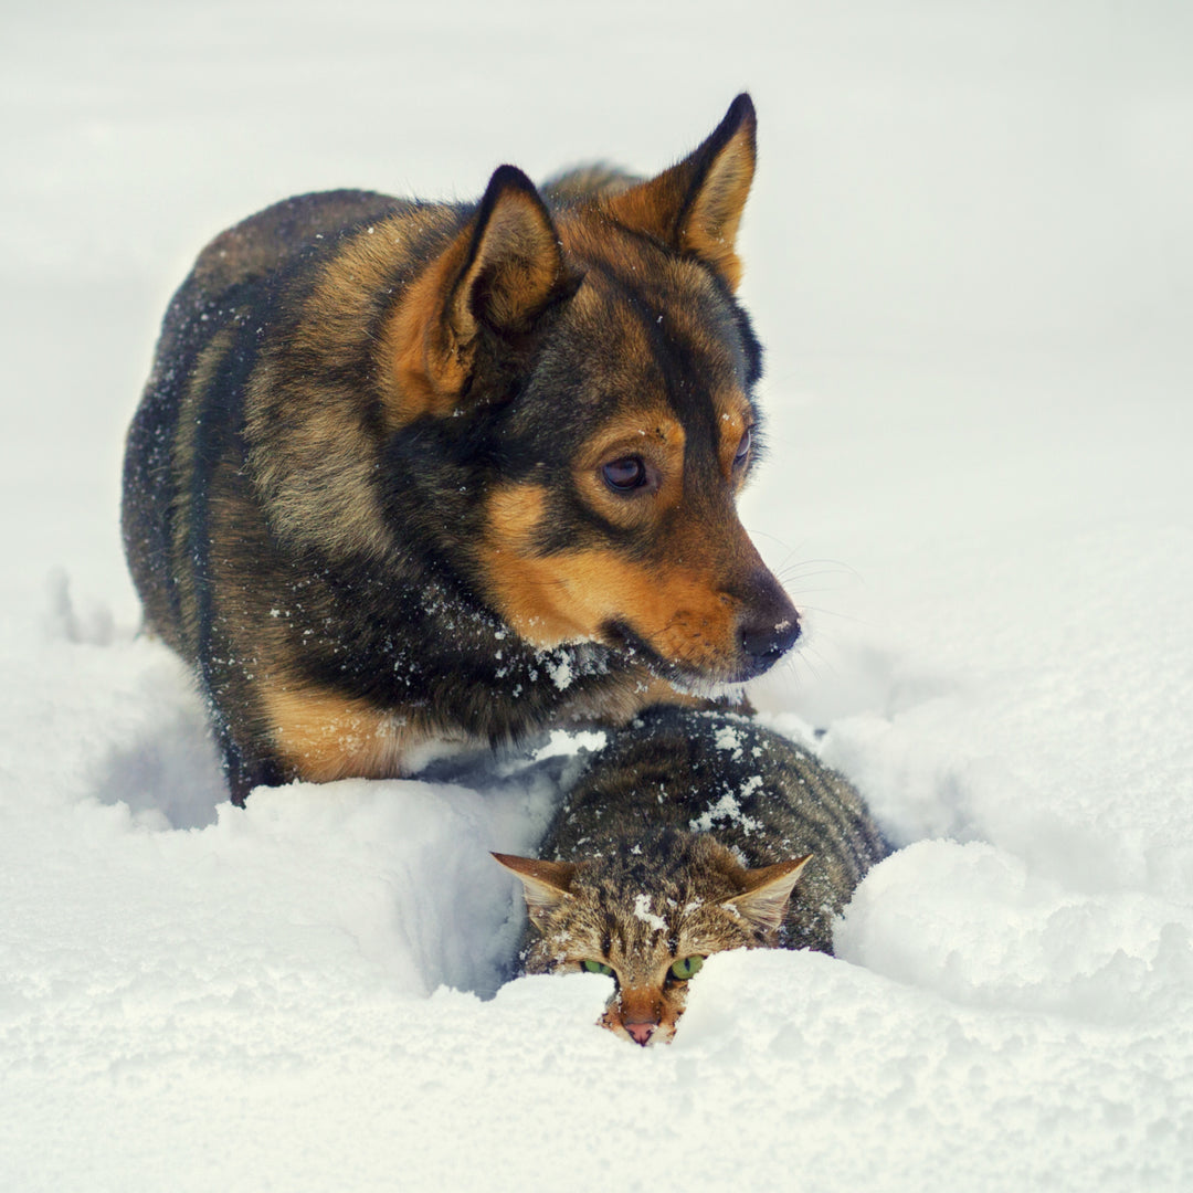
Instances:
[[[808,863],[747,870],[711,836],[676,829],[580,861],[494,857],[526,895],[536,929],[526,972],[608,975],[613,995],[599,1022],[643,1046],[674,1037],[705,957],[775,944]]]

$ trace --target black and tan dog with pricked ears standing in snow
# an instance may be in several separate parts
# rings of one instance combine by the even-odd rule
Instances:
[[[235,803],[699,706],[795,643],[735,507],[761,445],[735,297],[754,165],[742,94],[647,180],[305,194],[203,251],[122,524]]]

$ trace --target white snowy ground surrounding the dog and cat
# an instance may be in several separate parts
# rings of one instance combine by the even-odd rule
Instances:
[[[1193,1187],[1193,18],[1179,0],[7,2],[0,1187]],[[490,997],[533,771],[224,802],[135,638],[124,426],[211,234],[638,168],[747,86],[805,650],[755,699],[903,846],[837,959]]]

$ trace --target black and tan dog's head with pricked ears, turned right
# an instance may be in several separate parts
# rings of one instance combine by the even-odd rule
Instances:
[[[596,641],[740,682],[798,614],[736,512],[761,352],[735,298],[754,109],[648,181],[551,209],[502,166],[387,333],[395,426],[446,426],[483,525],[475,577],[536,647]]]

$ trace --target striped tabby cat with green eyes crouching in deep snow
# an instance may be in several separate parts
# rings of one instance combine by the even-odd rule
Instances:
[[[890,852],[806,749],[741,715],[655,707],[565,793],[540,858],[494,857],[526,898],[520,971],[611,976],[600,1025],[647,1046],[674,1038],[710,953],[832,953],[834,919]]]

